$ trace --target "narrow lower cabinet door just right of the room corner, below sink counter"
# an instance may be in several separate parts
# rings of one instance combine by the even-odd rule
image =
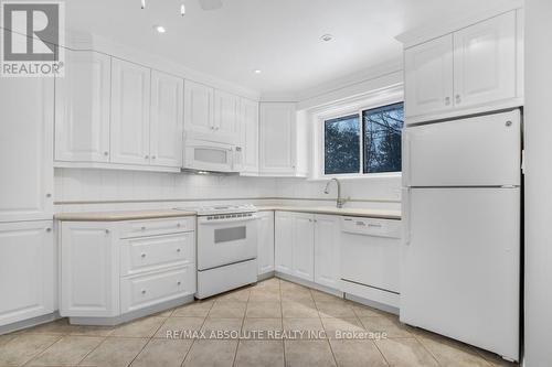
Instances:
[[[274,253],[276,271],[294,274],[294,219],[289,212],[276,212]]]

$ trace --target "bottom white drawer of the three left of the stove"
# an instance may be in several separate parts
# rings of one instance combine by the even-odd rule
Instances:
[[[121,313],[195,293],[195,266],[120,280]]]

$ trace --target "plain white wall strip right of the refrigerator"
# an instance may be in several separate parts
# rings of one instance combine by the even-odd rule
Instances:
[[[526,366],[552,366],[552,1],[526,1]]]

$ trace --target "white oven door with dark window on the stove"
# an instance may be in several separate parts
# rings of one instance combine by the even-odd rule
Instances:
[[[198,218],[198,270],[257,257],[256,214]]]

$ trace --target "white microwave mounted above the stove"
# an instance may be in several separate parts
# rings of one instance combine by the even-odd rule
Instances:
[[[212,141],[185,140],[183,169],[208,172],[240,172],[242,149],[232,144]]]

